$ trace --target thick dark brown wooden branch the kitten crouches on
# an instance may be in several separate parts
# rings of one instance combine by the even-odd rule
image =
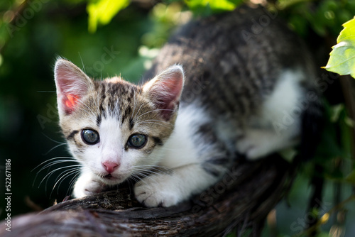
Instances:
[[[0,228],[0,236],[224,236],[232,230],[260,236],[294,175],[295,165],[275,156],[241,160],[220,182],[178,206],[146,208],[124,187],[18,216],[11,232]]]

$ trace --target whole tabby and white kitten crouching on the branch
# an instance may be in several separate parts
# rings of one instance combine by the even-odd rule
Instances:
[[[238,153],[255,160],[297,145],[302,118],[320,116],[315,67],[275,19],[253,33],[261,16],[241,7],[188,23],[143,85],[95,81],[58,59],[60,126],[83,167],[75,197],[139,176],[139,202],[172,206],[217,182]]]

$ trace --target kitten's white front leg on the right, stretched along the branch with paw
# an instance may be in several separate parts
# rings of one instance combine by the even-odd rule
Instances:
[[[134,186],[136,199],[148,207],[173,206],[198,194],[217,181],[200,165],[185,165],[171,173],[143,178]]]

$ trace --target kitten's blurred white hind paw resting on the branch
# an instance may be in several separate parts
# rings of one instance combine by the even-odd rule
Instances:
[[[246,155],[249,160],[257,160],[269,155],[285,143],[276,133],[263,130],[249,130],[245,136],[236,142],[239,153]]]

